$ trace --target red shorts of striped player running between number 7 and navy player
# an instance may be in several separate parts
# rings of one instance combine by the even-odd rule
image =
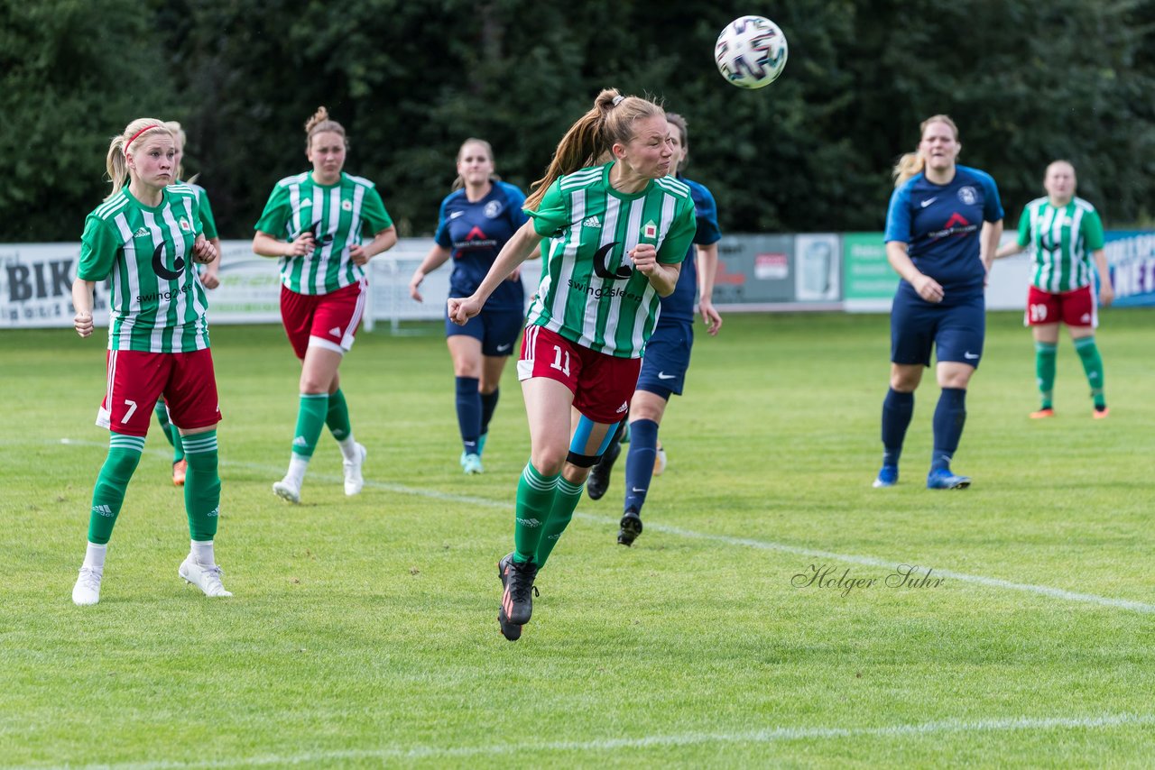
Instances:
[[[338,353],[352,347],[367,294],[365,278],[328,294],[298,294],[282,285],[281,322],[297,358],[305,360],[310,345]]]

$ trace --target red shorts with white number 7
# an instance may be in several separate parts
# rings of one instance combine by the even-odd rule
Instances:
[[[109,351],[109,388],[96,424],[127,435],[148,435],[156,399],[164,396],[169,419],[186,431],[221,421],[213,353]]]

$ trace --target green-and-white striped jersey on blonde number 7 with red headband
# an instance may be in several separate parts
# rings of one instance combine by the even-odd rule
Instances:
[[[209,346],[208,299],[193,263],[196,192],[169,185],[159,205],[122,188],[84,222],[83,281],[110,279],[109,350],[181,353]]]

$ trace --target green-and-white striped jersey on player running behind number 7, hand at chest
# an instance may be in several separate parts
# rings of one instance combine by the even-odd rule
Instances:
[[[316,248],[304,256],[282,256],[281,283],[298,294],[328,294],[365,276],[349,259],[349,247],[362,242],[363,225],[371,236],[393,225],[373,182],[341,172],[341,181],[318,185],[306,171],[277,182],[256,230],[285,240],[312,230]]]

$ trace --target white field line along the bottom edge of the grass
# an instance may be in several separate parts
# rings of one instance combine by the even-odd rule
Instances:
[[[912,725],[886,727],[763,727],[729,733],[677,733],[672,735],[643,735],[641,738],[603,738],[586,741],[553,741],[539,743],[493,743],[490,746],[389,746],[378,749],[337,749],[304,754],[261,754],[232,760],[198,762],[125,762],[89,764],[85,770],[182,770],[185,768],[236,768],[261,765],[320,764],[355,760],[425,760],[437,757],[490,757],[501,755],[535,756],[544,752],[616,752],[670,746],[702,746],[710,743],[781,743],[788,741],[822,741],[856,739],[904,739],[947,733],[998,733],[1050,730],[1109,730],[1155,725],[1152,713],[1103,713],[1095,717],[1013,717],[1005,719],[944,719]],[[51,765],[25,765],[44,768]]]

